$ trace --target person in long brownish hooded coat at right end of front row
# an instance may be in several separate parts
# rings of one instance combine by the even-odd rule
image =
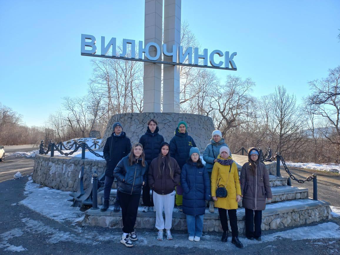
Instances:
[[[242,166],[240,177],[242,206],[245,208],[245,236],[250,240],[255,238],[260,241],[262,210],[266,208],[266,198],[272,199],[272,191],[268,171],[260,162],[256,148],[248,150],[248,160],[249,162]]]

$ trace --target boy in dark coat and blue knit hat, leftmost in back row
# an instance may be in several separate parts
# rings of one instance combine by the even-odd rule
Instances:
[[[113,170],[117,166],[118,162],[131,151],[131,141],[130,138],[126,136],[123,132],[123,126],[119,122],[116,122],[112,126],[113,133],[107,138],[103,154],[106,160],[106,170],[105,170],[105,184],[104,184],[104,203],[101,211],[106,211],[109,206],[110,191],[115,180],[113,175]],[[119,183],[117,183],[117,187]],[[116,202],[114,211],[120,211],[119,207],[119,196],[117,192]]]

